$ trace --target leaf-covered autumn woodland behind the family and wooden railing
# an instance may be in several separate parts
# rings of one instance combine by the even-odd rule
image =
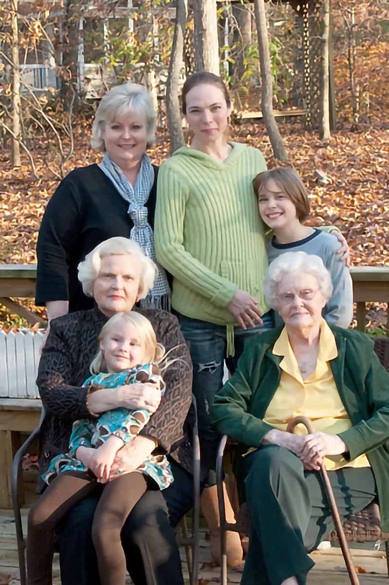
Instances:
[[[303,116],[277,118],[288,156],[283,163],[273,154],[262,119],[240,119],[261,109],[253,4],[189,2],[182,67],[173,89],[179,92],[185,74],[196,67],[194,12],[201,5],[206,18],[211,4],[217,9],[217,63],[234,98],[232,139],[261,149],[270,168],[296,168],[310,191],[308,223],[338,226],[353,265],[389,266],[389,2],[332,0],[336,128],[321,140]],[[175,6],[169,0],[0,0],[0,263],[36,263],[40,221],[58,181],[72,168],[101,159],[89,136],[99,96],[110,85],[124,80],[147,85],[158,108],[157,140],[148,153],[155,164],[170,156],[165,92]],[[300,17],[282,2],[267,2],[265,8],[273,106],[304,109]],[[18,140],[12,126],[16,52]],[[36,73],[30,74],[34,69],[46,75],[39,83]],[[186,140],[185,126],[183,131]],[[16,147],[20,160],[15,161]],[[32,300],[23,304],[44,318],[44,309]],[[387,309],[379,304],[368,309],[370,325],[383,331]],[[1,322],[25,325],[2,305]]]

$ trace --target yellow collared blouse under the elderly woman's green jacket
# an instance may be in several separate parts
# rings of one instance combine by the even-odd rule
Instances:
[[[311,419],[315,431],[329,435],[337,435],[351,428],[349,415],[329,367],[329,360],[338,356],[338,349],[334,334],[324,319],[320,325],[316,370],[311,376],[305,380],[301,377],[285,327],[273,347],[273,353],[283,356],[280,362],[282,373],[279,387],[263,417],[264,422],[280,431],[286,431],[291,418],[304,415]],[[307,433],[304,425],[297,425],[294,432],[298,435]],[[325,457],[324,462],[326,469],[331,471],[341,467],[370,467],[366,455],[360,455],[352,461],[346,460],[342,455],[332,455]]]

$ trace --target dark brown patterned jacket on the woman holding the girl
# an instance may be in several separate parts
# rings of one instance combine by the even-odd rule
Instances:
[[[192,472],[192,362],[178,320],[166,311],[136,309],[147,317],[158,342],[171,348],[169,358],[180,361],[164,374],[165,394],[157,411],[140,434],[158,441],[154,453],[171,453],[173,459]],[[72,423],[91,418],[86,408],[89,365],[98,350],[98,336],[107,317],[99,309],[78,311],[53,319],[41,355],[37,386],[46,409],[40,431],[39,469],[41,473],[55,455],[68,449]],[[182,360],[185,362],[183,363]],[[40,486],[43,487],[43,486]]]

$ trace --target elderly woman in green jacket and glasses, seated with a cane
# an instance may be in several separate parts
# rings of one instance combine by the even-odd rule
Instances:
[[[285,326],[247,343],[213,405],[218,431],[240,443],[238,477],[250,515],[242,585],[303,585],[308,552],[331,529],[319,479],[325,466],[341,518],[378,496],[389,529],[389,373],[359,331],[328,325],[331,295],[318,256],[288,252],[270,264],[265,295]],[[314,432],[296,426],[311,419]]]

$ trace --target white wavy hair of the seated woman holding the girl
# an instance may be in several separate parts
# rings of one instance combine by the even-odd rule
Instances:
[[[93,286],[100,273],[101,259],[105,256],[124,256],[125,254],[133,254],[141,265],[137,301],[147,297],[157,276],[157,265],[146,256],[137,242],[121,236],[104,240],[92,252],[86,254],[85,260],[78,264],[78,280],[87,297],[93,297]]]

